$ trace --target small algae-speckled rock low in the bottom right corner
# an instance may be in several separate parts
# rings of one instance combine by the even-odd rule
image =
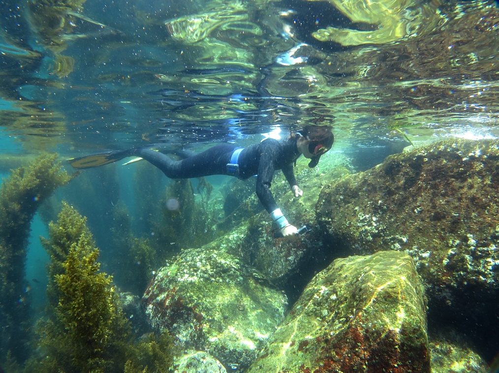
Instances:
[[[487,364],[475,352],[448,341],[430,342],[432,373],[486,373]]]

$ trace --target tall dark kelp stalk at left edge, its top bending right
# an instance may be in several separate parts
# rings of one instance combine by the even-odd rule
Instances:
[[[37,208],[71,176],[55,160],[43,155],[13,170],[0,191],[0,341],[1,358],[11,351],[23,361],[28,350],[29,302],[24,280],[30,223]],[[2,359],[3,360],[3,359]]]

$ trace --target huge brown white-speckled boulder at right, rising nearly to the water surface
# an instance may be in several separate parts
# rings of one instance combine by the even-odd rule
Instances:
[[[498,161],[498,141],[437,142],[324,187],[316,206],[324,242],[411,255],[430,315],[470,331],[490,354],[497,342],[483,341],[499,330]]]

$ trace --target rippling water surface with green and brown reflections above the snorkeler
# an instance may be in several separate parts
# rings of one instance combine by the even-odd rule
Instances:
[[[497,136],[495,2],[352,4],[3,1],[2,153],[196,148],[302,123],[347,146]]]

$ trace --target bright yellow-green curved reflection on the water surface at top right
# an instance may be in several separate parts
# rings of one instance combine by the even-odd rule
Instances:
[[[309,0],[316,1],[316,0]],[[339,29],[327,27],[312,33],[320,41],[335,41],[341,45],[382,44],[399,40],[410,34],[416,34],[421,22],[434,21],[423,17],[423,10],[408,11],[418,6],[415,0],[377,0],[351,1],[329,0],[352,22],[363,22],[371,26],[369,30]],[[433,18],[436,16],[437,4],[432,8]]]

